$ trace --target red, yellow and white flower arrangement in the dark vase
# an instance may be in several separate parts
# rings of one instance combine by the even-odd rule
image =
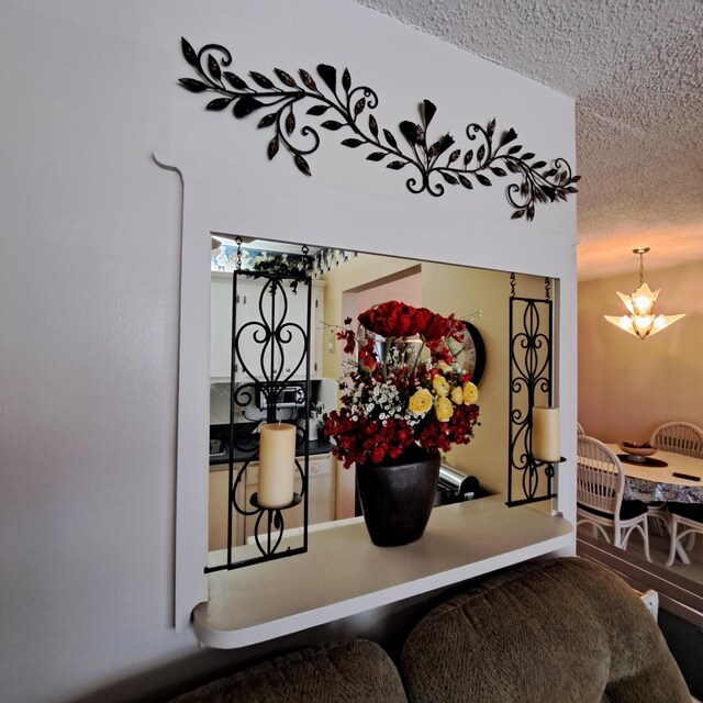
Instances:
[[[462,323],[426,308],[389,301],[358,316],[359,333],[337,332],[356,355],[341,408],[325,415],[332,453],[352,464],[402,461],[413,448],[427,454],[468,444],[479,408],[478,389],[456,362],[447,341]]]

